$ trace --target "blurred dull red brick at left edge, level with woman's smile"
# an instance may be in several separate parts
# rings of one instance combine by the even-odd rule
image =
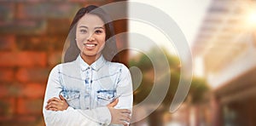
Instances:
[[[14,50],[14,49],[15,49],[14,35],[0,36],[0,50]]]

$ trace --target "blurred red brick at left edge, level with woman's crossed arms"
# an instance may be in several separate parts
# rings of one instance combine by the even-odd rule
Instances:
[[[15,98],[9,97],[0,100],[0,119],[7,119],[15,114]],[[2,117],[3,116],[3,117]],[[5,117],[5,118],[4,118]]]

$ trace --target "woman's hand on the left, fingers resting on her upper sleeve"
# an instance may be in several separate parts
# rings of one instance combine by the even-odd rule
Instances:
[[[58,99],[56,97],[51,98],[47,101],[47,105],[45,106],[46,110],[51,111],[64,111],[67,110],[68,104],[67,101],[64,99],[64,97],[60,94],[59,97],[61,99]]]

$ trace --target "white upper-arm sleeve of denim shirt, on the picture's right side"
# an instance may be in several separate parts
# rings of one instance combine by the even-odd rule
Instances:
[[[129,69],[122,65],[120,68],[119,81],[117,83],[117,95],[119,95],[119,103],[115,108],[132,109],[133,90],[131,82],[131,73]]]

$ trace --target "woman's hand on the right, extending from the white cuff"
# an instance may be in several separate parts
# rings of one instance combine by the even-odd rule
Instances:
[[[115,109],[108,106],[111,113],[111,124],[123,124],[128,125],[131,120],[131,111],[129,109]]]

